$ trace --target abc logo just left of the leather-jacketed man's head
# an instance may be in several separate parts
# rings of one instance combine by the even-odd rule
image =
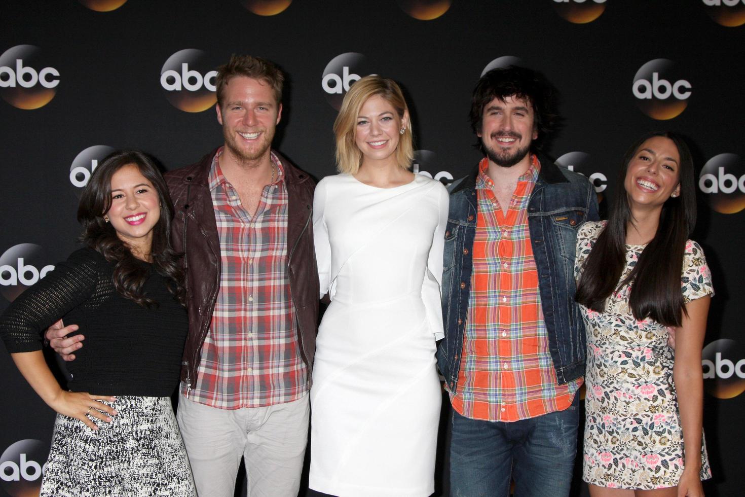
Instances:
[[[160,86],[165,98],[177,109],[200,113],[209,109],[218,97],[215,94],[215,64],[205,52],[186,48],[168,57],[160,69]]]

